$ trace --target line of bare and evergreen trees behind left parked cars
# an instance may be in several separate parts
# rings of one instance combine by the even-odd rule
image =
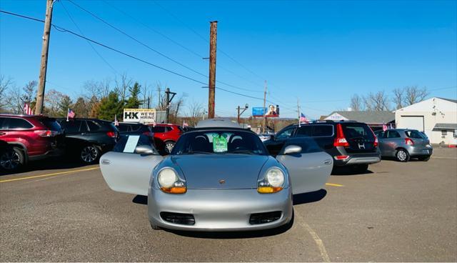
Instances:
[[[24,114],[24,105],[29,104],[34,109],[36,104],[37,81],[29,81],[24,86],[17,86],[13,79],[0,76],[0,112]],[[44,96],[43,112],[46,116],[66,117],[68,109],[76,113],[76,117],[96,118],[109,121],[114,116],[121,121],[124,109],[155,108],[158,111],[166,110],[166,87],[160,82],[154,88],[148,84],[139,84],[126,74],[118,76],[114,81],[90,80],[84,82],[82,92],[75,99],[48,85]],[[184,101],[187,94],[174,98],[169,109],[169,121],[178,123],[184,111]],[[185,116],[193,123],[204,114],[204,106],[199,102],[187,105]]]

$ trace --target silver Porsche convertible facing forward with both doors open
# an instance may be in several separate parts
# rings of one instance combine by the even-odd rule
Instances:
[[[292,195],[322,189],[331,157],[312,139],[293,139],[275,158],[256,134],[197,128],[161,157],[142,136],[123,137],[100,159],[117,192],[148,196],[153,229],[240,231],[288,224]]]

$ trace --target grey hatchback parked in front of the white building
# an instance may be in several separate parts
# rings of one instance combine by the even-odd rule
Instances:
[[[395,157],[400,162],[411,158],[428,161],[433,147],[428,138],[416,129],[388,129],[378,133],[382,157]]]

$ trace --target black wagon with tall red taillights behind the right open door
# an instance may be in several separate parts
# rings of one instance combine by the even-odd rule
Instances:
[[[312,137],[319,147],[333,157],[333,167],[348,166],[354,172],[364,172],[368,164],[381,162],[378,139],[365,123],[316,121],[291,124],[263,144],[271,155],[276,156],[283,144],[292,137]]]

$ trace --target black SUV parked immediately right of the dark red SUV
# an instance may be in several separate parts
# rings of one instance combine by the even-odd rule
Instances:
[[[66,152],[77,154],[85,163],[96,162],[116,144],[119,131],[111,121],[100,119],[59,119],[64,129]]]

